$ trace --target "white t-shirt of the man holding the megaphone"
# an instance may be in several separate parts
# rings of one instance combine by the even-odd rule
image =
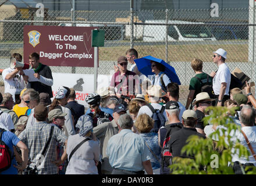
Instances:
[[[25,88],[25,83],[23,77],[17,73],[15,77],[6,80],[7,74],[11,73],[14,69],[4,69],[2,71],[3,81],[5,83],[5,93],[9,92],[12,94],[13,101],[15,102],[15,94],[20,94],[20,92]]]

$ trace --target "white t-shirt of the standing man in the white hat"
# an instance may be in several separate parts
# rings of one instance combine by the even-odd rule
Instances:
[[[231,80],[231,73],[229,67],[227,67],[226,63],[222,63],[219,66],[217,73],[214,76],[214,80],[212,83],[212,88],[214,89],[214,94],[219,95],[219,91],[221,89],[221,83],[227,83],[227,88],[225,90],[225,95],[229,95],[229,85]]]

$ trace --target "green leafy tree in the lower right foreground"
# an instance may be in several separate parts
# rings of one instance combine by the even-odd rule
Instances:
[[[206,139],[196,135],[189,137],[188,144],[182,148],[182,153],[194,155],[194,159],[173,158],[173,163],[169,166],[172,174],[234,174],[232,167],[228,166],[228,162],[232,160],[232,155],[237,153],[239,157],[244,156],[247,159],[250,155],[246,146],[241,145],[237,138],[235,142],[231,140],[234,137],[234,131],[241,131],[241,127],[235,124],[230,117],[230,115],[234,115],[236,109],[208,108],[211,114],[203,119],[204,124],[209,122],[215,126],[221,125],[226,128],[216,127],[216,131]],[[212,140],[212,137],[218,141]],[[231,165],[233,166],[233,163]],[[247,171],[247,174],[256,174],[256,167],[248,167],[246,170],[241,168],[244,174],[249,168],[252,170]]]

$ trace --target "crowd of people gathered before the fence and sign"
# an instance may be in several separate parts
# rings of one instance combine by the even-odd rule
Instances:
[[[12,58],[22,62],[19,53]],[[191,135],[207,138],[216,130],[203,122],[209,106],[238,106],[234,122],[256,150],[256,99],[247,82],[246,94],[241,88],[230,90],[226,58],[224,49],[213,52],[218,70],[211,74],[202,71],[200,59],[191,61],[195,76],[184,106],[166,67],[151,61],[154,75],[149,79],[134,62],[138,52],[129,49],[113,67],[109,86],[87,95],[86,110],[76,102],[73,88],[61,85],[53,97],[51,69],[31,53],[30,68],[38,81],[30,82],[22,67],[2,72],[0,140],[11,160],[5,166],[0,159],[0,174],[170,174],[173,157],[194,158],[182,153]],[[236,135],[251,152],[243,135]],[[232,162],[256,166],[253,152],[248,159],[234,156]]]

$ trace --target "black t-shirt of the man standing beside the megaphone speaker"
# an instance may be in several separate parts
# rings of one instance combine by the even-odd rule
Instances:
[[[50,67],[48,67],[47,65],[42,65],[41,68],[38,70],[37,72],[38,74],[40,74],[40,76],[43,76],[45,78],[52,78],[52,71],[50,69]],[[49,97],[52,98],[52,87],[45,85],[43,83],[40,83],[39,81],[33,81],[30,82],[31,84],[31,88],[33,88],[35,91],[39,92],[39,94],[41,92],[45,92],[49,94]]]

